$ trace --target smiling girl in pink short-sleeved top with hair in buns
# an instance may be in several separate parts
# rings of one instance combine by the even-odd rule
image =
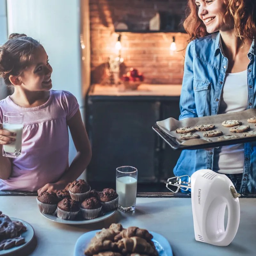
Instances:
[[[11,34],[0,47],[0,76],[14,93],[0,101],[3,113],[24,113],[22,153],[0,154],[0,190],[57,191],[75,180],[91,160],[91,148],[76,98],[52,88],[52,67],[44,47],[24,34]],[[1,127],[2,128],[2,124]],[[77,155],[68,166],[68,127]],[[2,145],[15,140],[0,130]]]

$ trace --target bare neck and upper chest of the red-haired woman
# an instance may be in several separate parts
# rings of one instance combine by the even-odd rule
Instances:
[[[252,39],[242,41],[234,33],[234,30],[220,31],[224,54],[228,59],[235,59],[239,54],[247,54],[250,50]]]

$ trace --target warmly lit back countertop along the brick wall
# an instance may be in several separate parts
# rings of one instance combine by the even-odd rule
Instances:
[[[181,84],[140,84],[137,90],[124,90],[122,85],[94,84],[89,96],[180,96]]]

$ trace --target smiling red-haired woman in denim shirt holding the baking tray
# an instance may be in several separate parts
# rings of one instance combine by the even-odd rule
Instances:
[[[180,120],[256,107],[256,1],[188,0],[189,34]],[[199,169],[225,173],[240,193],[256,192],[256,143],[184,150],[177,176]]]

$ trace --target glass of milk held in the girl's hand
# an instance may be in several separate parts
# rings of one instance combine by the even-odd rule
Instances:
[[[3,145],[3,156],[16,158],[21,154],[22,130],[23,130],[24,114],[20,112],[6,112],[3,118],[3,129],[15,132],[15,141],[10,144]]]

